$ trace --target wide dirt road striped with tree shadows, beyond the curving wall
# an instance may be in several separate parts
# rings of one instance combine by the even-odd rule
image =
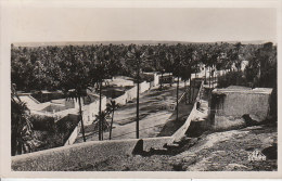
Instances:
[[[183,83],[180,85],[179,95],[183,93]],[[174,109],[168,109],[168,106],[176,101],[176,85],[164,90],[149,90],[140,95],[140,138],[156,137]],[[182,112],[183,107],[180,108]],[[188,113],[188,112],[183,112]],[[136,138],[136,100],[121,106],[115,112],[113,140],[134,139]],[[87,141],[98,140],[98,134],[88,126],[86,128]],[[78,135],[75,143],[82,142],[81,133]],[[108,139],[108,132],[104,132],[104,140]]]

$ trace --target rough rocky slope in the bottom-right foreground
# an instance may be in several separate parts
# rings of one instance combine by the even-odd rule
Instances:
[[[114,155],[101,163],[85,163],[86,171],[273,171],[277,170],[277,127],[261,125],[185,138],[179,146],[142,155]],[[248,160],[255,150],[266,160]]]

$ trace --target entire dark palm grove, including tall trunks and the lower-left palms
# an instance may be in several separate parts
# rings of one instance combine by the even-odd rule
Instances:
[[[241,70],[242,61],[248,61]],[[25,103],[17,96],[17,91],[60,90],[66,99],[79,103],[79,121],[84,141],[86,141],[81,98],[87,90],[94,90],[100,96],[97,129],[99,140],[107,127],[112,133],[114,102],[103,112],[101,108],[104,80],[114,76],[128,76],[137,83],[136,137],[139,138],[139,83],[143,72],[158,72],[161,77],[169,73],[177,81],[177,98],[180,78],[184,82],[197,74],[201,67],[208,70],[205,82],[213,87],[218,70],[223,75],[217,77],[219,87],[242,85],[249,87],[270,87],[277,92],[277,47],[271,42],[265,44],[238,43],[178,43],[178,44],[92,44],[92,46],[50,46],[14,47],[11,51],[12,81],[12,155],[33,151],[33,119]],[[234,68],[235,67],[235,68]],[[162,80],[161,78],[161,80]],[[171,85],[172,82],[170,82]],[[193,86],[193,81],[191,81]],[[159,89],[163,89],[161,81]],[[190,93],[191,94],[191,86]],[[274,95],[275,96],[275,95]],[[177,101],[178,103],[178,101]],[[191,103],[191,98],[189,99]],[[176,108],[178,113],[178,105]],[[112,113],[112,114],[108,114]],[[275,114],[275,113],[273,113]],[[112,115],[111,124],[106,117]],[[178,114],[177,114],[178,115]],[[110,126],[108,126],[110,125]],[[111,134],[110,133],[110,134]],[[111,135],[110,135],[111,139]]]

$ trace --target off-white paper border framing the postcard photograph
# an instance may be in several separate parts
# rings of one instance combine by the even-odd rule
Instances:
[[[1,1],[1,29],[0,29],[0,143],[1,143],[1,154],[0,154],[0,171],[1,178],[163,178],[163,179],[180,179],[180,178],[217,178],[217,179],[227,179],[227,178],[253,178],[253,179],[269,179],[269,178],[282,178],[281,170],[281,154],[278,158],[278,171],[85,171],[85,172],[63,172],[63,171],[11,171],[11,156],[10,156],[10,135],[11,135],[11,126],[10,126],[10,46],[11,46],[11,27],[9,22],[12,16],[10,14],[11,9],[15,7],[48,7],[48,8],[273,8],[277,11],[277,33],[278,33],[278,68],[281,68],[281,1],[280,0],[243,0],[243,1],[172,1],[172,0],[153,0],[153,1],[141,1],[141,0],[128,0],[128,1],[114,1],[114,0],[15,0],[15,1]],[[278,72],[278,92],[281,91],[281,80],[282,73]],[[278,94],[278,109],[281,109],[281,94]],[[281,118],[281,112],[278,113],[279,118]],[[278,132],[279,132],[279,152],[281,152],[281,121],[279,121]]]

